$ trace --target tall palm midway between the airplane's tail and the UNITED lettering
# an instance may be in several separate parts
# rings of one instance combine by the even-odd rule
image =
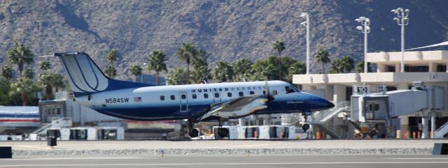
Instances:
[[[168,71],[167,64],[165,64],[165,61],[167,61],[165,59],[165,56],[166,55],[160,50],[155,50],[155,51],[151,52],[151,54],[149,54],[149,56],[148,56],[147,70],[155,71],[155,80],[156,80],[155,83],[157,85],[159,85],[159,72],[161,72],[162,70],[165,70],[165,72]]]

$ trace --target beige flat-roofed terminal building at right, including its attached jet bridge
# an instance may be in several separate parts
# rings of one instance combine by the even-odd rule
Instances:
[[[446,137],[448,51],[367,53],[374,72],[293,75],[303,91],[335,102],[314,125],[330,137]],[[319,122],[322,121],[322,122]],[[316,130],[314,130],[316,131]]]

